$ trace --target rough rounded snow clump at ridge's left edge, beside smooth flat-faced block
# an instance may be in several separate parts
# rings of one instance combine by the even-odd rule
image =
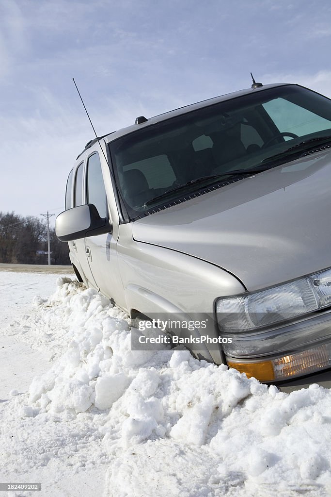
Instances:
[[[59,382],[48,392],[50,411],[60,413],[65,409],[74,409],[76,413],[84,413],[92,405],[93,394],[89,385],[76,378],[65,383]]]

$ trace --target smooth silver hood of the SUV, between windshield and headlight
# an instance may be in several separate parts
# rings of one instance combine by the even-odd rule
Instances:
[[[330,184],[331,152],[316,153],[135,221],[133,239],[258,290],[331,266]]]

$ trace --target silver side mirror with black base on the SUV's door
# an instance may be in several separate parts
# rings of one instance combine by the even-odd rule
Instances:
[[[107,218],[101,218],[93,204],[79,205],[56,218],[55,232],[61,242],[70,242],[111,232]]]

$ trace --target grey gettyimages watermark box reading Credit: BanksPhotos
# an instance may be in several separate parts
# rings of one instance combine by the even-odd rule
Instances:
[[[177,345],[218,348],[232,338],[214,332],[213,320],[155,318],[132,323],[132,350],[163,350]]]

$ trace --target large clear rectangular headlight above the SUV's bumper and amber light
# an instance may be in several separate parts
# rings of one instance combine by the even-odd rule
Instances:
[[[216,304],[222,332],[272,327],[331,305],[331,269],[267,290],[221,298]]]

